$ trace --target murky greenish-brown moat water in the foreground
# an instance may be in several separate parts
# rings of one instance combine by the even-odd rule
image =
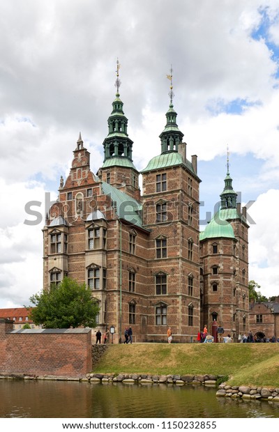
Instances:
[[[216,398],[211,387],[0,380],[0,417],[279,417],[279,404]]]

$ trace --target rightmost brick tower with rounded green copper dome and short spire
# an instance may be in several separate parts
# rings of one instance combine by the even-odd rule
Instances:
[[[199,234],[202,325],[214,319],[237,340],[248,332],[248,223],[246,208],[236,203],[227,158],[220,207]]]

